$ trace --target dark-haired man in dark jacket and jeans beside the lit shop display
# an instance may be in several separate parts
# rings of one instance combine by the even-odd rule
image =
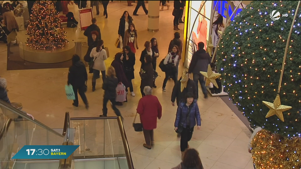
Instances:
[[[203,42],[199,42],[197,46],[199,50],[192,55],[188,73],[193,73],[193,81],[196,84],[196,86],[198,86],[198,81],[200,81],[204,98],[207,98],[208,94],[205,86],[204,76],[200,72],[207,72],[208,64],[211,62],[211,59],[210,55],[204,50]],[[197,94],[199,94],[198,87]]]

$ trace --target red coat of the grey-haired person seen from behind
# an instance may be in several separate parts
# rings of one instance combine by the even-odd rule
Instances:
[[[162,106],[156,96],[146,95],[139,100],[137,113],[144,130],[157,128],[157,118],[162,116]]]

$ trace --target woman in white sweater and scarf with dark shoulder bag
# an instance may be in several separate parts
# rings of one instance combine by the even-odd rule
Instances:
[[[168,81],[168,78],[171,77],[174,83],[178,80],[176,77],[177,76],[177,69],[176,69],[176,64],[179,59],[179,48],[177,45],[173,45],[171,51],[166,55],[164,59],[164,65],[166,65],[167,71],[165,72],[165,78],[163,81],[163,86],[162,90],[165,92],[166,89],[166,83]]]

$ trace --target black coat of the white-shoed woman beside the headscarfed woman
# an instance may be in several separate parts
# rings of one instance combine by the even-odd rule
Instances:
[[[135,75],[134,75],[134,65],[136,62],[136,57],[135,54],[130,52],[129,53],[129,60],[126,60],[126,53],[123,53],[123,66],[125,69],[125,74],[127,79],[134,79]]]

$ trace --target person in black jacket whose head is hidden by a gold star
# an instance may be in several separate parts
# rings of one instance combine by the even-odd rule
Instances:
[[[184,88],[182,91],[181,91],[181,85]],[[194,99],[197,99],[197,87],[194,81],[189,78],[187,70],[184,70],[182,73],[182,77],[175,83],[172,89],[172,94],[171,94],[172,106],[175,106],[175,99],[177,99],[177,106],[178,106],[180,101],[184,99],[185,94],[187,94],[188,92],[193,93]]]

